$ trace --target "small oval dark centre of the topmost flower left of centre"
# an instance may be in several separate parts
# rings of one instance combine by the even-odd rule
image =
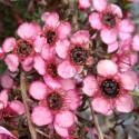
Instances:
[[[47,42],[48,42],[49,44],[56,42],[56,37],[57,37],[57,36],[56,36],[56,32],[52,31],[52,30],[49,30],[49,31],[47,31],[47,33],[46,33]]]

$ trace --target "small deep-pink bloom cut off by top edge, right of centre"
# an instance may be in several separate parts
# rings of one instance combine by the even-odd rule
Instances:
[[[87,10],[91,6],[90,0],[78,0],[78,9],[80,10]]]

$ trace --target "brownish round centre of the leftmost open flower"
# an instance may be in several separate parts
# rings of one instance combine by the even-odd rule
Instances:
[[[20,56],[29,56],[32,51],[32,44],[26,40],[18,43],[18,53]]]

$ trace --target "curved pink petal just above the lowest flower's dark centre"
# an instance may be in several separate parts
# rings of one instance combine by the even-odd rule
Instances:
[[[57,78],[52,78],[50,75],[44,75],[43,80],[44,80],[46,85],[51,89],[62,87],[61,82]]]

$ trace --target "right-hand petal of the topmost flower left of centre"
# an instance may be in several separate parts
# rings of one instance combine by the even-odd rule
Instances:
[[[69,22],[60,22],[57,31],[58,31],[58,38],[59,39],[66,39],[67,36],[70,34],[71,24]]]

